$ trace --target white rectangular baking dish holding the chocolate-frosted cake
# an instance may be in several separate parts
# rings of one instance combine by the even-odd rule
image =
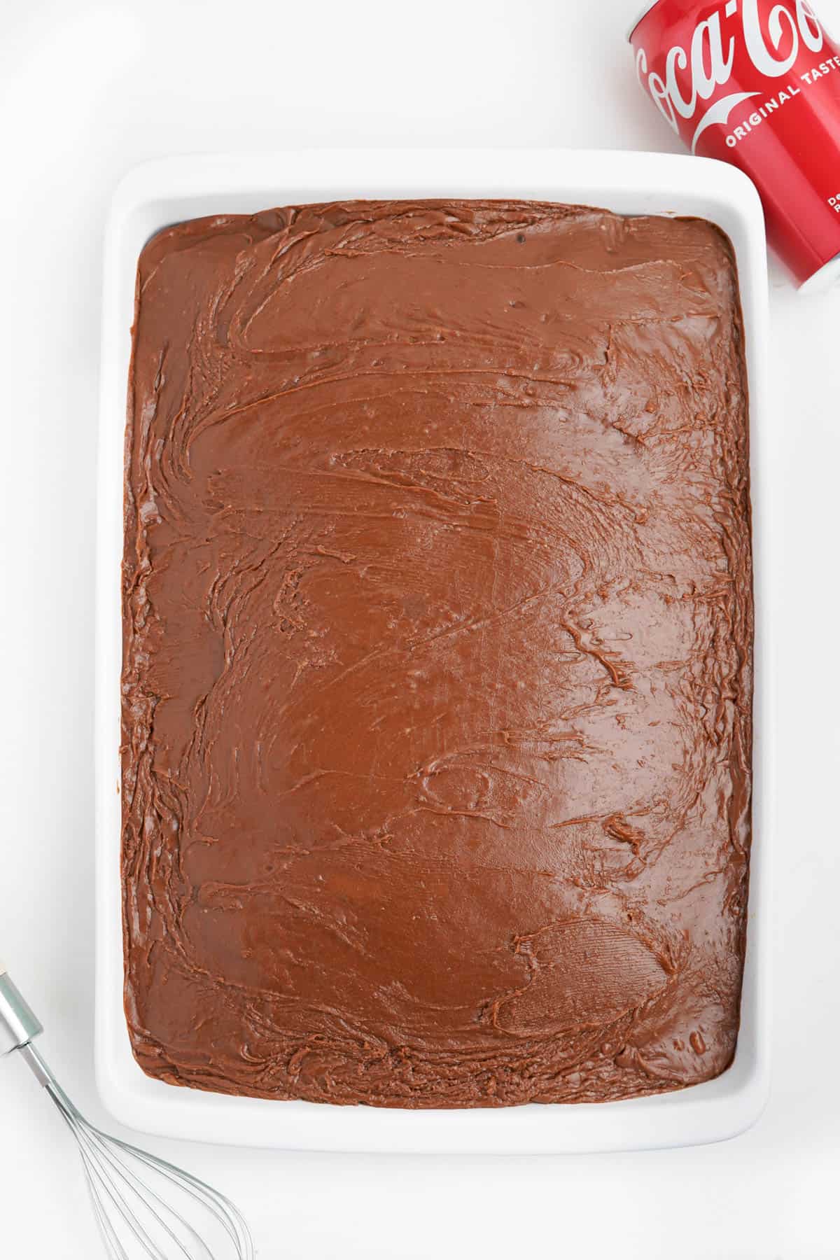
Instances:
[[[122,1009],[120,890],[120,562],[126,382],[135,270],[147,238],[181,219],[355,197],[516,197],[630,214],[703,215],[729,233],[741,272],[753,440],[757,567],[756,813],[749,941],[734,1065],[678,1094],[602,1105],[400,1111],[236,1099],[145,1076]],[[147,1133],[300,1150],[583,1153],[718,1142],[756,1121],[769,1089],[767,867],[773,844],[776,433],[768,407],[767,262],[758,195],[732,166],[661,154],[559,150],[326,151],[165,159],[120,184],[105,258],[96,662],[96,1070],[102,1099]]]

